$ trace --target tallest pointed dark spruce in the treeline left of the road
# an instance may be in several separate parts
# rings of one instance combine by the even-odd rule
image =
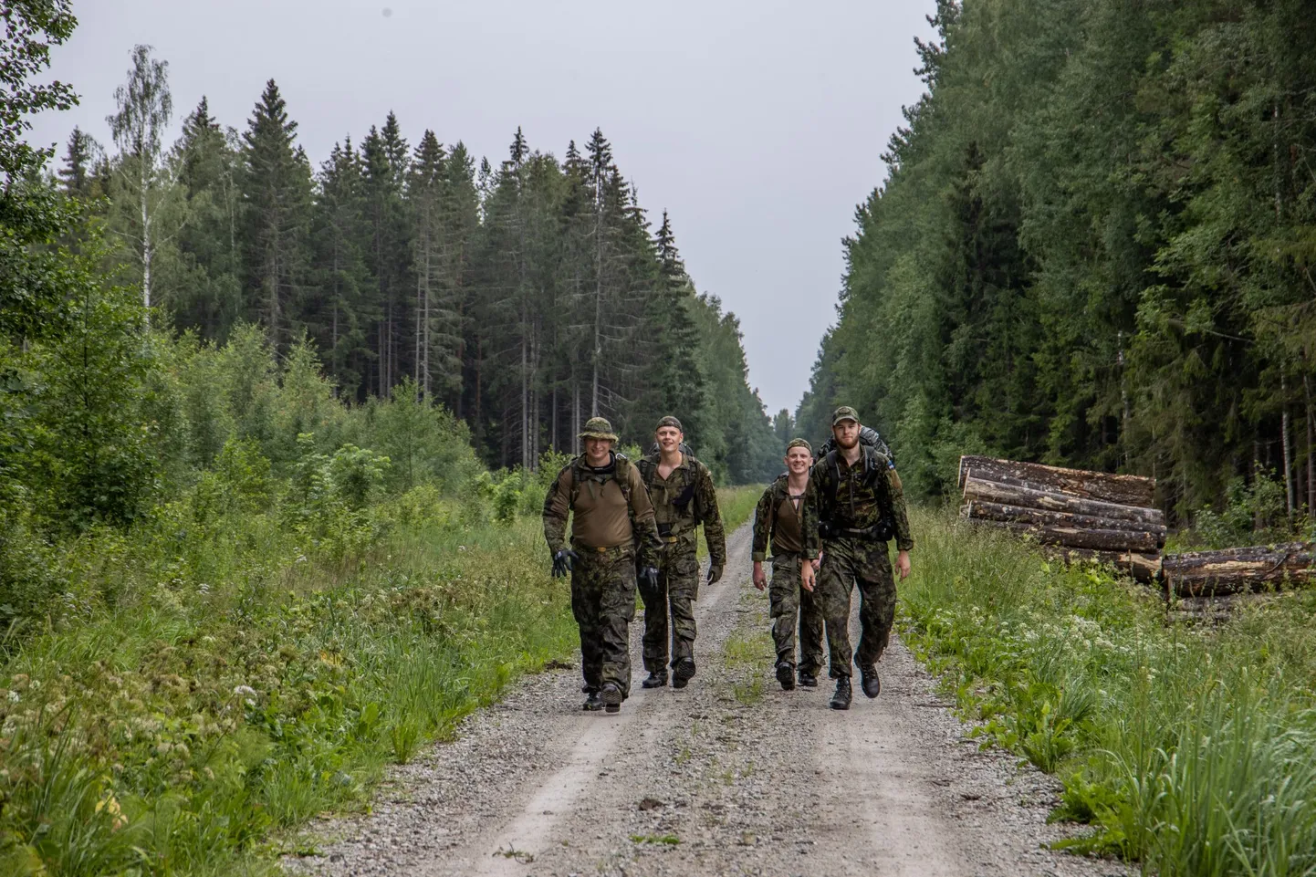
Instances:
[[[296,337],[308,280],[311,166],[296,132],[279,87],[268,80],[242,136],[242,238],[246,309],[263,321],[276,349]]]

